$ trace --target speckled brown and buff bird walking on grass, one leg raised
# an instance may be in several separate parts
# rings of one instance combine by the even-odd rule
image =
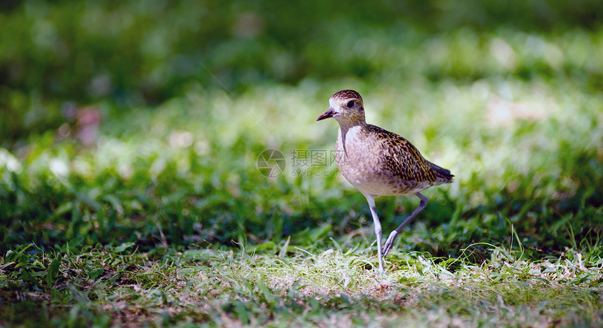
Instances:
[[[365,120],[363,98],[354,90],[335,92],[330,108],[316,121],[334,118],[339,123],[335,160],[341,174],[362,193],[369,204],[377,235],[379,274],[385,276],[383,257],[402,228],[427,206],[422,191],[434,185],[452,183],[449,170],[429,162],[419,150],[398,134],[381,129]],[[379,196],[405,195],[421,199],[419,206],[381,245],[381,222],[375,210]]]

